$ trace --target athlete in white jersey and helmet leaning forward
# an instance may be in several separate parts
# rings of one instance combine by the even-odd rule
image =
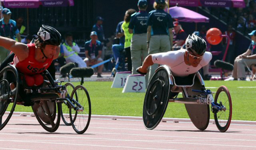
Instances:
[[[211,60],[211,53],[206,51],[203,38],[192,34],[186,39],[186,50],[170,51],[148,55],[142,66],[137,69],[140,74],[146,74],[147,68],[154,63],[167,65],[174,76],[188,76],[196,73]]]

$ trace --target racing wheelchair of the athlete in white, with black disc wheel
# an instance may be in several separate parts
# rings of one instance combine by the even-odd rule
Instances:
[[[179,93],[182,98],[177,98]],[[221,86],[213,98],[204,87],[199,72],[187,77],[175,77],[169,67],[160,66],[147,87],[143,104],[143,122],[148,130],[153,130],[161,121],[168,102],[184,103],[190,120],[199,130],[209,124],[210,109],[220,132],[226,132],[231,122],[232,102],[228,89]]]

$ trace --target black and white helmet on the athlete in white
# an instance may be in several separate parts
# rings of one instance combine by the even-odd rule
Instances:
[[[206,51],[206,41],[196,34],[188,35],[185,45],[188,51],[197,55],[202,55]]]

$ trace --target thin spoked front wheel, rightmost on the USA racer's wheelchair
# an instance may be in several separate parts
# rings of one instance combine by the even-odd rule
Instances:
[[[77,95],[77,96],[76,96]],[[91,100],[88,91],[77,85],[71,94],[76,111],[70,107],[69,114],[72,127],[78,134],[86,132],[91,120]],[[76,118],[76,119],[75,119]]]

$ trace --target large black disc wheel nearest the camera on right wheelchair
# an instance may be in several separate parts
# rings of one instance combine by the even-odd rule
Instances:
[[[157,127],[163,118],[168,105],[169,91],[169,75],[167,70],[161,67],[152,77],[144,99],[143,122],[148,130]]]

